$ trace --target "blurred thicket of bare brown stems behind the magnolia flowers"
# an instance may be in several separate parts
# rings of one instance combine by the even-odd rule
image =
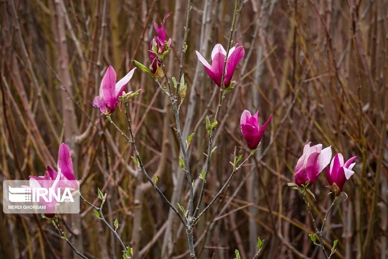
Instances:
[[[219,87],[206,75],[195,50],[207,60],[217,43],[227,46],[234,1],[191,3],[183,73],[187,83],[180,106],[182,138],[195,132],[188,149],[194,206],[200,196],[208,153],[206,115],[213,121]],[[131,143],[91,103],[112,65],[118,78],[149,66],[153,23],[166,13],[171,49],[166,74],[177,77],[184,42],[187,1],[180,0],[2,0],[0,1],[0,179],[28,179],[56,165],[59,145],[69,145],[83,197],[102,207],[133,258],[189,258],[184,226],[139,172]],[[241,0],[232,40],[245,56],[223,100],[199,212],[213,200],[234,170],[230,161],[250,150],[239,125],[244,109],[272,120],[260,150],[234,175],[194,228],[197,258],[324,258],[306,232],[315,230],[293,182],[306,143],[332,146],[333,154],[357,156],[355,174],[326,219],[322,242],[332,258],[388,258],[388,1]],[[171,78],[169,79],[171,83]],[[161,86],[167,83],[160,78]],[[171,102],[138,69],[127,91],[142,89],[128,102],[132,133],[149,177],[172,205],[187,208],[189,184]],[[124,105],[123,105],[124,107]],[[124,107],[125,109],[125,107]],[[127,117],[114,123],[127,135]],[[307,201],[317,226],[333,196],[325,177]],[[96,205],[99,207],[99,205]],[[270,206],[270,207],[268,207]],[[177,207],[177,206],[176,206]],[[195,207],[194,207],[195,210]],[[183,214],[181,214],[183,215]],[[114,232],[81,202],[80,214],[60,214],[62,231],[87,258],[121,258]],[[0,257],[76,258],[49,221],[34,214],[0,213]],[[272,222],[272,223],[271,223]]]

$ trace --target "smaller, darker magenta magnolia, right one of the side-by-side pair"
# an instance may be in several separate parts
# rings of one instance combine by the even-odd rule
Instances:
[[[353,161],[356,158],[357,156],[353,156],[352,158],[350,158],[348,161],[344,163],[342,154],[338,153],[331,160],[330,169],[328,166],[326,166],[325,171],[326,171],[327,182],[329,182],[330,186],[333,186],[333,184],[335,183],[340,188],[339,193],[333,192],[334,195],[340,194],[342,192],[343,185],[353,175],[354,171],[352,171],[352,168],[356,164],[356,163],[353,163]],[[334,190],[332,189],[332,191]]]

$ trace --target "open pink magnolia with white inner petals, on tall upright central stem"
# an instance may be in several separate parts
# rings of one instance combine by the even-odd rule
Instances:
[[[237,45],[238,43],[229,50],[225,68],[224,87],[229,86],[234,70],[236,70],[237,63],[239,63],[240,59],[245,54],[244,47],[237,47]],[[195,53],[197,54],[199,61],[205,66],[206,72],[208,72],[211,80],[213,80],[217,86],[221,87],[223,64],[226,56],[226,51],[222,45],[218,43],[214,46],[213,51],[211,52],[211,65],[198,51],[195,51]]]

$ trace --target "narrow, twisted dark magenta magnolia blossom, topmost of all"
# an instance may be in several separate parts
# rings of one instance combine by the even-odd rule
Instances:
[[[165,52],[165,42],[167,42],[167,47],[169,48],[170,47],[170,44],[171,44],[171,38],[168,39],[167,41],[167,37],[166,37],[166,31],[165,31],[165,20],[168,16],[170,16],[171,13],[169,14],[166,14],[165,18],[163,19],[163,23],[161,23],[160,27],[158,26],[158,24],[155,22],[154,23],[154,27],[155,27],[155,30],[156,30],[156,33],[158,33],[158,37],[154,36],[154,39],[151,41],[151,47],[150,47],[150,50],[152,51],[152,43],[156,42],[156,49],[157,49],[157,53],[163,53]],[[160,67],[161,65],[161,61],[156,57],[156,54],[153,53],[153,52],[150,52],[149,53],[149,59],[151,60],[151,66],[150,66],[150,69],[152,71],[152,73],[156,73],[156,71],[158,70],[158,66]]]

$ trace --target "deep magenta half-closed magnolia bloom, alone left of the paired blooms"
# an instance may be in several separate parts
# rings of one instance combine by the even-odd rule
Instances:
[[[267,128],[268,123],[272,119],[272,114],[269,116],[269,119],[263,126],[259,126],[258,120],[259,112],[256,112],[255,115],[251,115],[248,110],[244,110],[241,114],[240,124],[241,132],[246,140],[246,144],[250,149],[256,149],[259,145],[260,140],[263,137],[265,128]]]

